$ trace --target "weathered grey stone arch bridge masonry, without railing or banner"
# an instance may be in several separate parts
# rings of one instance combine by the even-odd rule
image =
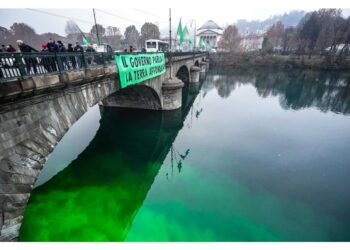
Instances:
[[[25,206],[48,155],[89,107],[99,103],[178,111],[192,100],[187,94],[182,100],[183,86],[198,89],[207,68],[206,54],[174,54],[171,70],[167,57],[164,75],[124,89],[113,64],[25,77],[18,74],[23,69],[12,68],[11,77],[0,78],[0,241],[18,238]],[[8,73],[7,68],[0,70],[2,76]]]

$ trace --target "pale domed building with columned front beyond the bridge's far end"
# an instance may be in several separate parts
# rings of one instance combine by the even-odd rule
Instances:
[[[209,20],[197,30],[197,43],[201,37],[204,42],[207,42],[212,48],[216,49],[222,33],[223,29],[214,21]]]

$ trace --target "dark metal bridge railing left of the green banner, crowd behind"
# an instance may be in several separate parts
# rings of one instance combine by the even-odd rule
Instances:
[[[106,66],[113,63],[113,54],[103,52],[0,53],[0,82]]]

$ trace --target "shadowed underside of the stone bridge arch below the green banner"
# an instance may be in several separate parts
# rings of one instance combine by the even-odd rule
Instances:
[[[102,101],[103,105],[138,109],[162,109],[158,93],[150,86],[135,84],[120,89]]]

